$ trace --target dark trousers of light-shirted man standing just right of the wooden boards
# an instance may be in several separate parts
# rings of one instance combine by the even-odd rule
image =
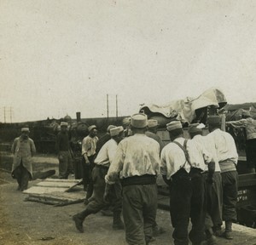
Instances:
[[[84,157],[82,159],[84,191],[87,191],[86,199],[90,198],[93,192],[93,181],[91,173],[95,166],[94,156],[90,156],[88,159],[90,162],[89,164],[85,163]]]

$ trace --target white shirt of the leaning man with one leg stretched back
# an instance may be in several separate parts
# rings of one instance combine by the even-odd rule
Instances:
[[[111,162],[113,161],[113,157],[117,150],[117,142],[113,139],[108,140],[99,151],[95,163],[98,165],[102,165],[105,167],[109,167]]]

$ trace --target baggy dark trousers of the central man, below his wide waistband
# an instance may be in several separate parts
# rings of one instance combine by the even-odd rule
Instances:
[[[123,186],[125,239],[130,245],[148,244],[157,210],[157,186]]]

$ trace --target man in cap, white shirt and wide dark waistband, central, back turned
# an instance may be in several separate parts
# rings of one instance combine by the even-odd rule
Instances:
[[[145,135],[148,118],[137,113],[131,117],[133,135],[119,142],[106,175],[113,185],[123,186],[123,217],[128,244],[148,244],[157,209],[156,177],[160,173],[160,145]]]

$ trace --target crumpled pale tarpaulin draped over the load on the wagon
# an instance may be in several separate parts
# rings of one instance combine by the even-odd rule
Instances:
[[[176,117],[182,122],[192,122],[195,110],[210,105],[219,108],[227,103],[224,93],[218,88],[207,89],[197,98],[187,97],[184,100],[173,100],[166,105],[143,105],[141,111],[149,115],[162,115],[166,118]]]

